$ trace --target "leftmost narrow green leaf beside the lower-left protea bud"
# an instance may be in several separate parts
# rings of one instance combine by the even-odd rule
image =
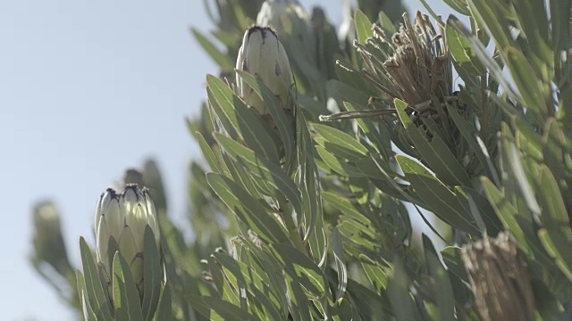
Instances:
[[[89,306],[96,314],[97,320],[114,320],[107,289],[104,287],[105,281],[101,279],[91,250],[83,237],[80,237],[80,252]]]

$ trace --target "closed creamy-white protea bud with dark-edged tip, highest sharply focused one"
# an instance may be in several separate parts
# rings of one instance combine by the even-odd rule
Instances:
[[[292,75],[290,61],[278,36],[269,27],[253,26],[242,38],[236,69],[248,71],[262,80],[273,92],[284,108],[288,106]],[[236,75],[238,95],[259,114],[266,115],[265,103],[254,93],[252,87]]]

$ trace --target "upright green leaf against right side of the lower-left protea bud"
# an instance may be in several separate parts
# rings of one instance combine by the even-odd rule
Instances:
[[[143,301],[141,309],[147,321],[155,316],[157,303],[161,296],[161,282],[163,280],[163,268],[161,257],[151,227],[145,226],[143,235]]]

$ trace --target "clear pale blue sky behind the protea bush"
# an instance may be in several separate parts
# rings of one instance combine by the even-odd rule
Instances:
[[[301,2],[341,19],[341,0]],[[184,117],[217,71],[190,26],[211,28],[202,1],[0,2],[0,319],[73,319],[29,265],[34,202],[56,202],[76,266],[99,194],[147,156],[182,217],[186,168],[200,157]]]

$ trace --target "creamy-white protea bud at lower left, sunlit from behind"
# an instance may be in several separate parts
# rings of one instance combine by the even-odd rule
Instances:
[[[143,240],[145,227],[149,226],[159,247],[159,225],[156,210],[147,189],[128,184],[122,193],[108,188],[99,198],[96,209],[96,254],[97,262],[105,268],[107,281],[111,281],[112,259],[115,249],[130,265],[135,284],[139,290],[143,284]],[[110,251],[111,250],[111,251]]]

